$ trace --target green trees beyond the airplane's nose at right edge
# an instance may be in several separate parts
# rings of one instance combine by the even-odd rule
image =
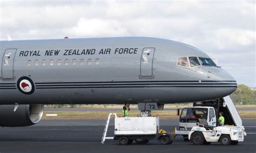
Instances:
[[[237,90],[231,94],[231,98],[235,103],[247,103],[255,102],[255,94],[250,87],[246,85],[238,85]]]

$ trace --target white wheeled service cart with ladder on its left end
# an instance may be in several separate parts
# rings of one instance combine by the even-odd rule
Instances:
[[[114,115],[114,137],[106,137],[110,116]],[[172,144],[170,133],[159,130],[159,117],[117,117],[110,113],[102,136],[102,143],[106,139],[119,140],[121,145],[131,144],[136,141],[145,144],[150,140],[159,140],[161,144]]]

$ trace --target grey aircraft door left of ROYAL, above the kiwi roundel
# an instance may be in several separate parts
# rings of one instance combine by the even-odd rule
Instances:
[[[17,49],[6,49],[3,55],[2,61],[2,78],[12,79],[14,78],[14,58]]]

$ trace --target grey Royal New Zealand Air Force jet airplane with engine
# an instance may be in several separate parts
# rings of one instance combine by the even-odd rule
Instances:
[[[112,37],[0,41],[0,126],[30,126],[49,104],[180,103],[230,95],[237,82],[198,48]]]

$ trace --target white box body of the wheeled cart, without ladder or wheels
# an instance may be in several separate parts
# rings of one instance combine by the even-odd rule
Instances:
[[[114,135],[155,135],[159,130],[159,117],[116,117]]]

